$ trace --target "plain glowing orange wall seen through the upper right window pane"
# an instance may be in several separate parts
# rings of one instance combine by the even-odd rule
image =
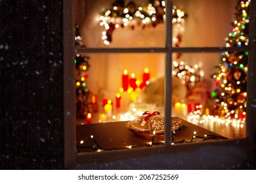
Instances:
[[[182,40],[179,46],[226,46],[225,38],[228,37],[232,27],[231,23],[236,20],[234,12],[236,12],[237,2],[236,0],[173,1],[174,5],[181,7],[188,14],[184,31],[180,37],[177,37],[178,41]]]

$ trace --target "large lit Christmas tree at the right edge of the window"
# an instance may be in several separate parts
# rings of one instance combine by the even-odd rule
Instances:
[[[226,38],[226,47],[248,45],[250,1],[238,1],[235,21]],[[216,89],[212,93],[213,115],[244,119],[247,100],[248,52],[223,52],[217,66]]]

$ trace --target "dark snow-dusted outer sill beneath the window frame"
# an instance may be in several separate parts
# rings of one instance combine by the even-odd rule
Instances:
[[[74,169],[255,169],[247,138],[81,153]]]

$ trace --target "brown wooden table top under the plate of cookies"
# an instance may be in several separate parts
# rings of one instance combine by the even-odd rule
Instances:
[[[173,117],[172,120],[182,120]],[[214,141],[225,137],[182,120],[182,127],[173,137],[174,143]],[[138,135],[127,129],[127,122],[108,122],[104,124],[76,125],[77,152],[95,152],[96,150],[118,150],[161,145],[160,136]],[[196,133],[195,133],[196,132]],[[173,133],[172,133],[173,135]],[[205,136],[206,135],[206,136]],[[93,138],[92,138],[93,137]],[[153,142],[153,143],[152,143]]]

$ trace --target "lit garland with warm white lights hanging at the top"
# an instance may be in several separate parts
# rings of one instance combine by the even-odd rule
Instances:
[[[187,14],[177,7],[173,7],[173,24],[184,22]],[[129,1],[125,5],[124,0],[117,0],[112,3],[112,7],[104,10],[99,18],[100,25],[104,26],[102,40],[109,45],[112,42],[112,33],[118,27],[135,26],[156,27],[165,21],[165,1],[150,0],[148,5],[142,7],[136,5],[134,1]],[[178,38],[179,39],[179,38]]]

